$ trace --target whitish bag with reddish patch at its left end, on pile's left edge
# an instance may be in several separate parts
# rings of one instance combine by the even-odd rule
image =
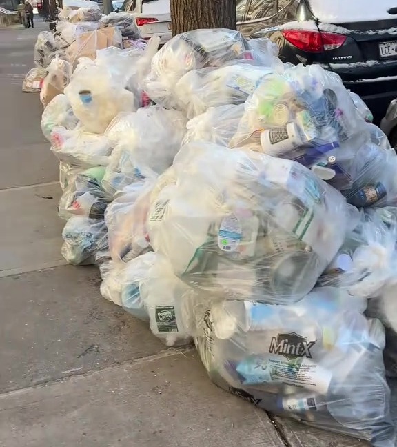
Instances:
[[[85,132],[83,128],[54,128],[51,132],[51,142],[51,150],[59,161],[86,168],[105,166],[112,152],[104,135]]]

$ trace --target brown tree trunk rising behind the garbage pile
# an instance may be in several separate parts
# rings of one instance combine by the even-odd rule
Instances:
[[[172,34],[200,28],[236,29],[236,0],[171,0]]]

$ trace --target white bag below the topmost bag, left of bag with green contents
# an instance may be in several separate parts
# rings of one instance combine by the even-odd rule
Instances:
[[[220,68],[202,68],[185,74],[176,84],[179,103],[192,118],[207,108],[245,103],[256,84],[270,68],[252,65],[252,61],[232,61]]]

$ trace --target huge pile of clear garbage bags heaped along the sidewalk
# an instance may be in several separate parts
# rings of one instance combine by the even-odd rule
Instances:
[[[96,15],[64,17],[66,39]],[[74,37],[96,36],[89,56],[43,56],[70,64],[41,123],[63,256],[167,346],[194,341],[218,386],[394,446],[396,152],[336,74],[267,39],[195,30],[158,50],[124,19]]]

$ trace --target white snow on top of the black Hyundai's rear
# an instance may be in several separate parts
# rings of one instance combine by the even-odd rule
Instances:
[[[397,7],[397,0],[309,0],[314,15],[327,23],[348,23],[397,19],[387,10]]]

